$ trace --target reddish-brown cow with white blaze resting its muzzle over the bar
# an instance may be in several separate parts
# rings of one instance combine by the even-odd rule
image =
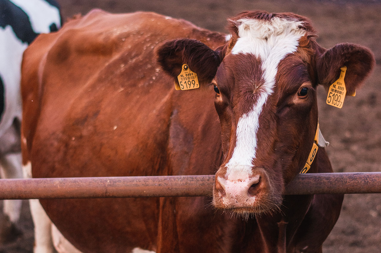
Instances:
[[[34,178],[215,175],[208,197],[40,200],[77,250],[322,252],[343,195],[283,193],[300,172],[332,172],[317,86],[345,70],[353,95],[373,54],[322,48],[297,14],[228,21],[226,35],[93,10],[25,51],[22,157]]]

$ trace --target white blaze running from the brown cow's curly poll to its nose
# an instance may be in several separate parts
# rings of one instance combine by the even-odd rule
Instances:
[[[297,20],[275,17],[270,21],[240,19],[238,22],[239,38],[231,53],[253,54],[261,59],[264,84],[259,89],[258,100],[251,111],[243,114],[238,121],[235,149],[226,164],[228,179],[251,176],[257,149],[259,115],[267,98],[273,93],[278,64],[287,54],[297,50],[299,38],[306,33],[299,28],[303,22]]]

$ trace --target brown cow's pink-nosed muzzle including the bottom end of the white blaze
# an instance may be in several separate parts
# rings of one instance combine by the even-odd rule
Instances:
[[[231,209],[235,213],[262,213],[273,211],[280,204],[281,200],[277,199],[281,196],[274,194],[263,168],[237,165],[234,170],[229,170],[220,168],[216,173],[213,188],[213,205],[216,208]]]

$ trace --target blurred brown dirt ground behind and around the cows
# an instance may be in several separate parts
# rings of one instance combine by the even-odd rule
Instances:
[[[319,90],[319,122],[335,172],[381,171],[381,1],[126,1],[58,0],[64,20],[101,8],[113,13],[155,11],[183,18],[200,27],[224,31],[226,18],[244,10],[295,12],[312,19],[318,42],[329,48],[341,42],[368,46],[376,67],[356,97],[347,97],[343,109],[325,104]],[[32,252],[33,224],[24,201],[18,227],[24,235],[0,246],[0,253]],[[323,245],[326,253],[381,252],[381,194],[346,195],[340,218]]]

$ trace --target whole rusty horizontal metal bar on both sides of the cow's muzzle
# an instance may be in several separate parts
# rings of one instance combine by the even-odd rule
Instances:
[[[211,195],[214,175],[0,179],[0,199],[78,199]],[[381,193],[381,172],[307,173],[286,195]]]

